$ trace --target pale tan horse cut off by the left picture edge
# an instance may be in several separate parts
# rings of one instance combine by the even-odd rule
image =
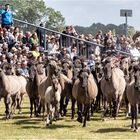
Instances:
[[[16,98],[20,95],[21,85],[17,76],[6,75],[2,69],[0,69],[0,82],[2,88],[1,94],[4,97],[4,103],[6,108],[6,119],[9,119],[14,113],[16,106]],[[11,110],[10,99],[12,99]]]

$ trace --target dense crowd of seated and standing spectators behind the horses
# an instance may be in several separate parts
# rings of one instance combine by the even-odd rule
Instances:
[[[5,5],[5,13],[9,11],[9,5]],[[10,13],[11,14],[11,13]],[[114,35],[111,31],[103,34],[98,31],[96,35],[78,34],[73,26],[66,26],[65,30],[60,34],[47,34],[46,46],[44,46],[44,31],[37,28],[32,33],[26,31],[24,34],[19,27],[13,26],[12,18],[2,20],[0,27],[0,63],[8,62],[16,64],[21,73],[28,76],[25,68],[27,64],[33,61],[44,62],[48,55],[56,55],[59,59],[69,58],[73,60],[79,55],[88,55],[91,63],[100,60],[100,55],[106,50],[121,50],[140,56],[138,46],[132,38],[124,35]],[[43,27],[43,24],[40,24]],[[65,35],[74,36],[80,40],[76,40]],[[85,43],[90,41],[94,44]],[[137,40],[138,42],[139,40]],[[100,45],[104,47],[100,47]],[[44,50],[47,48],[47,51]],[[47,54],[47,55],[46,55]]]

